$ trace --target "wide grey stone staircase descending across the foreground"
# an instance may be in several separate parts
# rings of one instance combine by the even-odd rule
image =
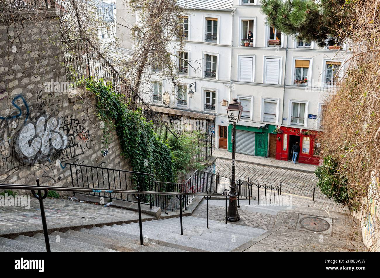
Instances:
[[[81,228],[49,234],[51,251],[232,251],[266,230],[225,224],[192,216],[142,222],[144,246],[139,245],[139,224]],[[0,237],[0,251],[46,251],[44,235]]]

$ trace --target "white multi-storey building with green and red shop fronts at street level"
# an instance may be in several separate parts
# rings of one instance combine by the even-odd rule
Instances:
[[[331,43],[320,48],[281,34],[265,24],[258,0],[178,4],[187,12],[186,46],[173,52],[184,86],[172,88],[157,72],[147,97],[152,107],[171,123],[181,118],[206,121],[215,148],[231,151],[226,108],[237,97],[244,107],[237,152],[288,160],[298,141],[299,162],[317,164],[323,104],[343,75],[349,47]]]

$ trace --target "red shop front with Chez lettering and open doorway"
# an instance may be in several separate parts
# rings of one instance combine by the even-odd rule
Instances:
[[[291,160],[291,148],[298,142],[301,149],[298,154],[297,161],[299,163],[307,163],[318,165],[320,157],[314,155],[318,144],[316,143],[317,132],[307,129],[299,129],[294,127],[280,127],[282,133],[277,133],[276,159]]]

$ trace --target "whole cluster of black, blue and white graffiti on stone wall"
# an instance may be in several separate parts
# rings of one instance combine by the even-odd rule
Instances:
[[[57,181],[66,163],[78,163],[79,156],[91,148],[86,119],[76,115],[57,116],[61,101],[51,93],[39,91],[37,102],[28,104],[24,96],[15,97],[6,116],[0,112],[0,182],[22,168]]]

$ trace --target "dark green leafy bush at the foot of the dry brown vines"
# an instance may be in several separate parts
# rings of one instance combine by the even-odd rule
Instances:
[[[317,167],[315,175],[318,177],[317,186],[328,198],[332,198],[336,203],[347,206],[351,210],[358,208],[358,204],[350,198],[354,192],[348,190],[348,179],[344,172],[339,170],[339,163],[332,156],[323,159],[323,165]]]

